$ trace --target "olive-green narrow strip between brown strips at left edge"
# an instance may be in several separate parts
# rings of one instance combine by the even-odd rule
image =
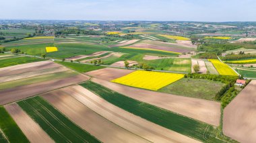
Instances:
[[[61,73],[53,73],[53,74],[42,75],[42,76],[38,76],[38,77],[30,77],[27,79],[19,79],[16,81],[8,81],[5,83],[0,83],[0,90],[10,89],[13,87],[20,87],[23,85],[31,85],[34,83],[40,83],[40,82],[50,81],[50,80],[54,80],[54,79],[62,79],[62,78],[66,78],[66,77],[72,77],[75,75],[77,75],[77,73],[74,73],[72,71],[65,71],[65,72],[61,72]]]

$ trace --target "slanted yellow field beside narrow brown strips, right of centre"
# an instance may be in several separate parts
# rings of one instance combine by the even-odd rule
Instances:
[[[224,64],[223,62],[220,62],[218,59],[208,59],[212,64],[214,64],[214,67],[218,71],[220,75],[232,75],[237,76],[237,74],[230,68],[228,65]]]

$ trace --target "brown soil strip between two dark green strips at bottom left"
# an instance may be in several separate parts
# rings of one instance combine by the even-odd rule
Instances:
[[[17,103],[4,107],[30,142],[54,142]]]

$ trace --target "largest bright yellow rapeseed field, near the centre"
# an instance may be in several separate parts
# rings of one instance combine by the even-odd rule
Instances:
[[[174,83],[184,77],[183,74],[160,73],[153,71],[137,70],[129,75],[114,79],[112,82],[141,89],[157,91],[170,83]]]

